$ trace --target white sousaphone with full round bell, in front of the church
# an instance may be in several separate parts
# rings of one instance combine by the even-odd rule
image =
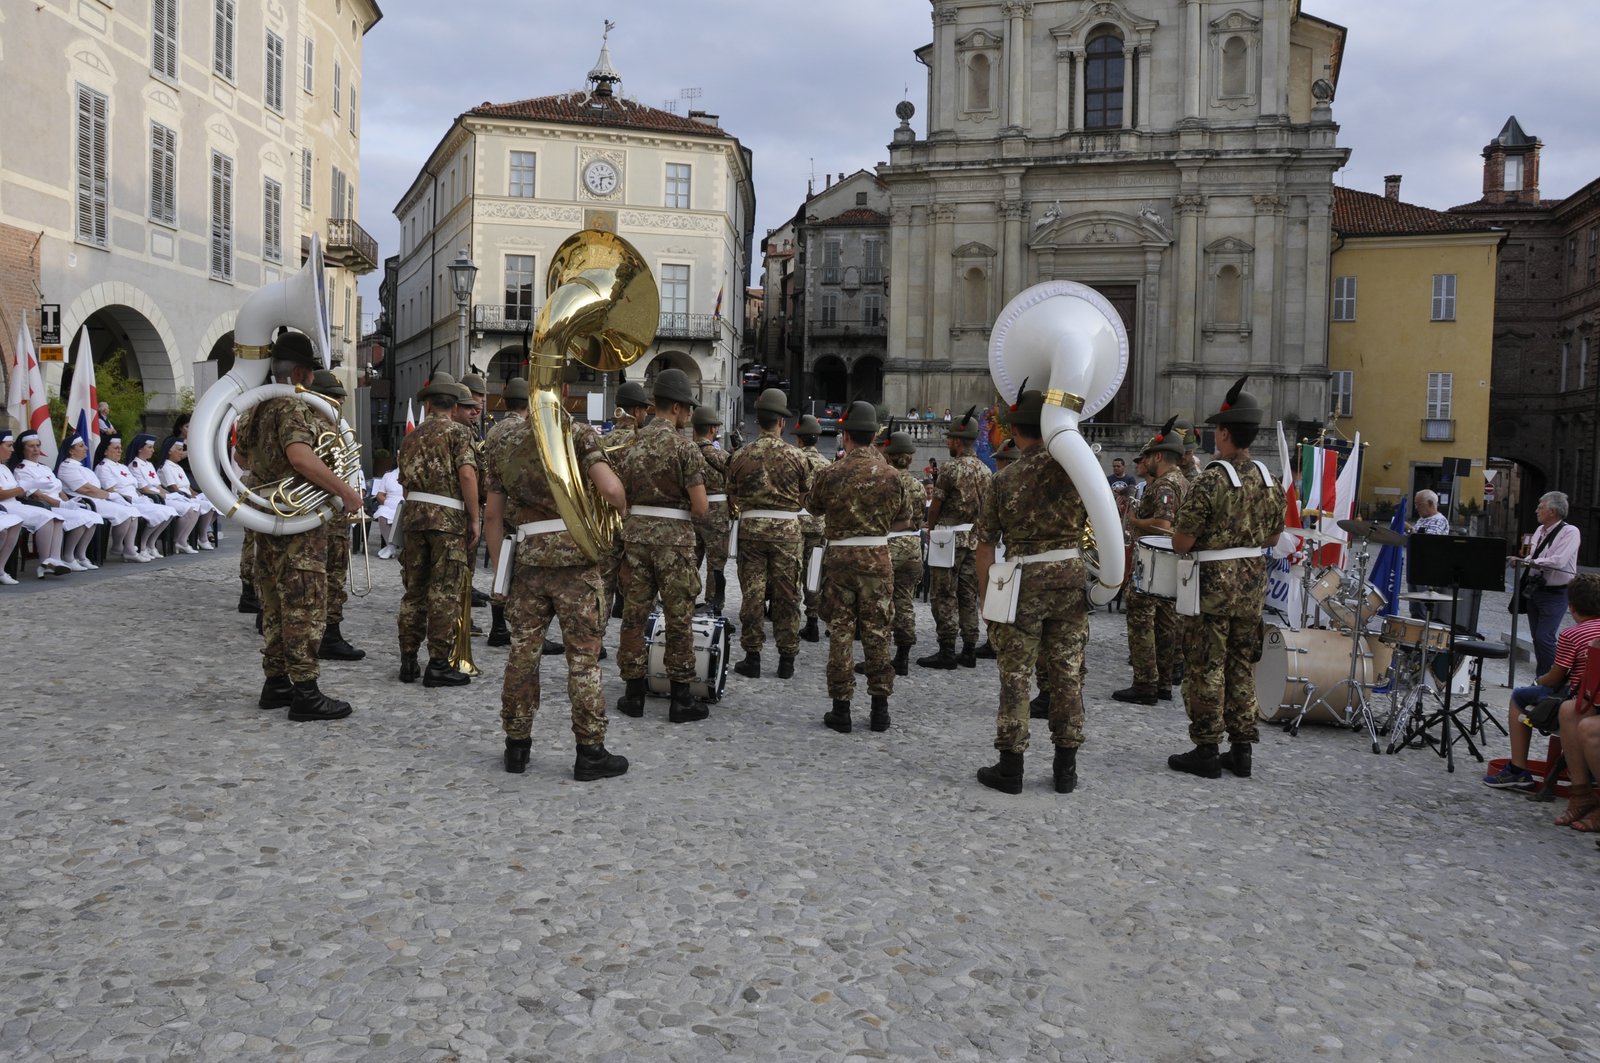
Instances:
[[[1038,424],[1045,448],[1072,477],[1101,543],[1099,576],[1090,588],[1096,605],[1117,597],[1126,557],[1117,499],[1078,421],[1104,408],[1126,373],[1128,330],[1101,293],[1074,280],[1027,288],[1000,311],[989,335],[989,375],[1000,395],[1016,402],[1024,381],[1045,392]]]

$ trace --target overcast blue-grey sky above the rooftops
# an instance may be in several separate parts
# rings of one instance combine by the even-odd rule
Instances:
[[[888,160],[894,104],[917,104],[925,134],[926,69],[912,50],[933,38],[928,0],[382,0],[366,37],[362,91],[362,226],[384,256],[398,247],[394,207],[450,122],[483,101],[509,102],[584,85],[602,19],[621,91],[722,117],[755,155],[757,255],[792,216],[806,179]],[[1478,199],[1483,146],[1515,114],[1544,141],[1541,192],[1563,197],[1600,178],[1600,5],[1504,0],[1304,0],[1349,29],[1334,120],[1352,149],[1338,181],[1443,210]],[[1587,54],[1584,54],[1587,50]],[[685,99],[683,90],[699,90]],[[760,261],[752,267],[752,282]],[[378,314],[378,280],[362,285]]]

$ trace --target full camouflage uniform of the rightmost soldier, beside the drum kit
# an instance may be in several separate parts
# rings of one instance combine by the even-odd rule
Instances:
[[[1219,467],[1232,464],[1240,487]],[[1174,532],[1195,536],[1195,551],[1258,548],[1283,532],[1283,491],[1243,455],[1213,461],[1178,511]],[[1200,564],[1200,616],[1184,623],[1184,708],[1195,746],[1222,733],[1254,743],[1261,610],[1267,594],[1266,557]]]

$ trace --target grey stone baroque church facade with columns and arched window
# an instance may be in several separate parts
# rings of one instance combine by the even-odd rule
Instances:
[[[1274,419],[1320,424],[1346,30],[1299,0],[931,6],[926,131],[901,104],[878,168],[888,408],[989,402],[992,322],[1062,279],[1128,327],[1104,442],[1203,415],[1245,373]]]

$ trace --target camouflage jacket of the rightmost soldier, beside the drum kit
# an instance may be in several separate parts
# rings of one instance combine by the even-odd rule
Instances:
[[[1197,551],[1261,548],[1283,532],[1283,488],[1250,461],[1248,453],[1226,463],[1240,485],[1234,487],[1221,459],[1206,466],[1184,496],[1173,530],[1195,536]],[[1261,616],[1267,594],[1267,560],[1237,557],[1200,564],[1200,612],[1214,616]]]

